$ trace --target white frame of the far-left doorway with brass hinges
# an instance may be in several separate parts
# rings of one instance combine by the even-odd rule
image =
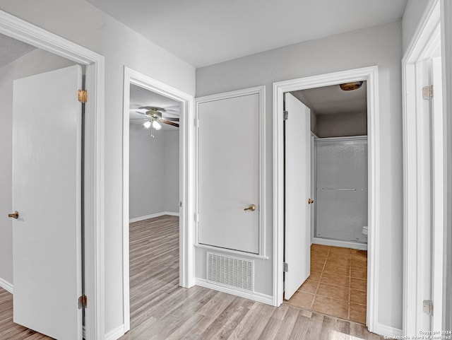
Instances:
[[[0,10],[0,33],[85,66],[84,225],[85,339],[102,339],[104,308],[104,105],[105,59],[54,33]],[[74,94],[75,95],[75,94]],[[74,303],[76,303],[74,301]]]

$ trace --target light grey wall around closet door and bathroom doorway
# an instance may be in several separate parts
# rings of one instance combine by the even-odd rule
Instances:
[[[402,328],[402,30],[400,21],[273,49],[196,70],[196,96],[266,85],[266,242],[256,260],[256,291],[272,293],[272,84],[333,71],[379,66],[380,216],[379,324]],[[196,249],[196,276],[205,278],[205,251]],[[198,265],[199,264],[199,265]]]

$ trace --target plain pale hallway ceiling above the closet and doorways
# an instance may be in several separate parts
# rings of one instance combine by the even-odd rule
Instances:
[[[407,0],[88,0],[195,67],[389,23]]]

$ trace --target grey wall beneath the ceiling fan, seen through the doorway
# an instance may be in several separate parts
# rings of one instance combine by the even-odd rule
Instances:
[[[130,125],[129,216],[179,212],[179,130]]]

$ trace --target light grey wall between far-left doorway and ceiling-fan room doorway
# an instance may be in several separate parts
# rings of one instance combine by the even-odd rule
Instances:
[[[123,324],[124,65],[194,94],[194,68],[84,0],[2,0],[0,9],[105,56],[105,332]]]

